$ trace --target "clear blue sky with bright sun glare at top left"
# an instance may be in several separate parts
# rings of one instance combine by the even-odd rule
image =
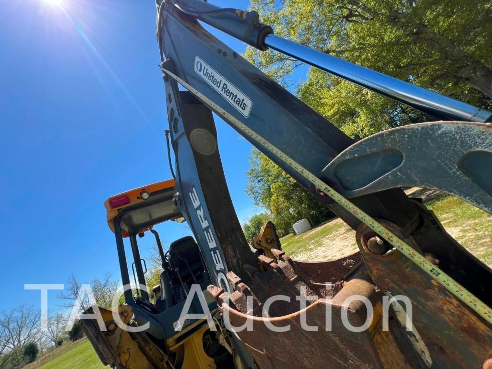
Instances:
[[[2,310],[38,303],[39,292],[24,291],[25,283],[64,283],[72,273],[81,282],[107,272],[120,278],[103,202],[171,173],[153,0],[0,6]],[[258,211],[245,194],[251,146],[224,122],[216,125],[231,196],[245,219]],[[167,242],[186,233],[179,225],[158,230]],[[152,243],[144,240],[143,249]],[[57,295],[49,295],[53,309]]]

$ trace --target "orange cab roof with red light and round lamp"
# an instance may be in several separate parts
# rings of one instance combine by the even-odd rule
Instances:
[[[114,232],[114,218],[121,217],[123,237],[152,229],[154,224],[180,218],[181,212],[173,201],[174,180],[148,184],[109,197],[104,202],[109,228]]]

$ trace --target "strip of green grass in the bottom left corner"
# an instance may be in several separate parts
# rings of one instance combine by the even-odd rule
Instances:
[[[109,368],[101,364],[92,348],[91,342],[83,339],[79,342],[67,342],[57,349],[41,356],[25,369],[102,369]]]

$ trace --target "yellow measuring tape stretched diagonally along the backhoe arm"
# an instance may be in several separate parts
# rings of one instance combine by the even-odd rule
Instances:
[[[296,162],[287,154],[283,153],[281,150],[277,149],[270,142],[261,137],[258,133],[253,131],[251,128],[246,126],[240,120],[229,114],[227,111],[222,109],[220,106],[215,104],[211,99],[206,97],[201,92],[197,91],[195,88],[191,87],[189,84],[184,82],[181,78],[179,78],[174,73],[168,71],[167,69],[161,68],[164,73],[168,76],[172,77],[174,80],[179,82],[182,86],[184,86],[189,92],[193,93],[196,97],[202,100],[203,103],[212,108],[215,113],[224,117],[228,122],[232,123],[237,129],[245,133],[247,136],[252,138],[253,140],[262,144],[265,148],[279,157],[282,161],[291,166],[296,172],[301,174],[305,179],[307,179],[314,186],[319,187],[324,193],[326,193],[329,197],[331,197],[336,203],[344,207],[350,214],[357,217],[361,222],[366,224],[370,229],[376,232],[379,236],[384,238],[388,243],[392,246],[396,247],[400,252],[408,257],[411,261],[417,264],[422,270],[424,270],[427,274],[429,274],[432,278],[442,284],[445,288],[447,288],[453,295],[459,298],[466,305],[475,310],[480,316],[482,316],[485,320],[492,324],[492,309],[485,305],[482,301],[476,298],[472,293],[466,290],[460,283],[456,280],[448,276],[442,270],[440,270],[437,266],[432,264],[429,260],[427,260],[420,253],[415,251],[412,247],[407,245],[405,242],[400,240],[397,236],[379,224],[376,220],[374,220],[370,215],[363,212],[357,206],[352,204],[345,197],[340,195],[337,191],[335,191],[332,187],[321,181],[314,174],[309,172],[305,167]]]

